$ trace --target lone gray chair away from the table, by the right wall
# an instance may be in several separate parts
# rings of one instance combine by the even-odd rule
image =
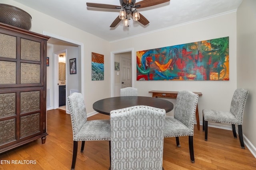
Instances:
[[[236,89],[231,100],[230,111],[203,109],[203,131],[205,131],[205,134],[204,134],[205,141],[207,141],[207,135],[208,135],[208,121],[215,121],[219,123],[231,123],[232,131],[235,139],[237,139],[236,125],[238,125],[238,135],[239,135],[240,145],[242,149],[245,148],[243,132],[242,132],[242,124],[243,124],[244,107],[245,107],[248,95],[249,95],[249,92],[247,90],[243,88]]]

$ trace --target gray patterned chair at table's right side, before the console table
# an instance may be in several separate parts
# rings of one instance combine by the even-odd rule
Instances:
[[[188,136],[190,160],[195,162],[193,135],[194,119],[198,95],[190,91],[178,92],[174,108],[174,117],[166,117],[164,137],[176,137],[177,147],[180,147],[180,136]]]

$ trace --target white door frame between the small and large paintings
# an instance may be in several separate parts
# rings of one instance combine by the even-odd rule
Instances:
[[[130,48],[130,49],[124,49],[124,50],[120,50],[120,51],[111,51],[110,52],[110,97],[114,96],[114,84],[115,84],[115,71],[114,71],[114,64],[115,64],[115,55],[118,53],[125,53],[125,52],[131,52],[132,53],[132,87],[134,87],[134,75],[135,75],[135,71],[134,71],[134,64],[136,64],[136,58],[134,57],[134,49]]]

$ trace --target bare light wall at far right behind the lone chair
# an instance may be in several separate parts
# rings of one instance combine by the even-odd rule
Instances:
[[[244,0],[237,11],[237,86],[249,91],[243,121],[244,136],[256,147],[256,1]],[[256,150],[256,148],[251,150]],[[254,152],[256,156],[256,152]]]

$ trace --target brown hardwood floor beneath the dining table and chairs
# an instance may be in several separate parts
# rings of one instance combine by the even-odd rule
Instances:
[[[108,115],[88,117],[109,119]],[[71,168],[73,140],[70,115],[63,110],[47,111],[46,143],[38,139],[22,147],[0,154],[0,170],[68,170]],[[256,158],[246,149],[241,149],[239,139],[232,131],[208,127],[208,141],[204,141],[202,126],[194,130],[195,163],[190,162],[188,137],[180,137],[181,147],[176,147],[175,138],[164,139],[165,170],[250,170],[256,169]],[[108,170],[110,166],[108,141],[86,141],[85,150],[79,152],[78,143],[76,170]],[[34,164],[27,164],[28,161]],[[8,161],[10,163],[8,163]],[[16,161],[16,162],[15,162]],[[20,161],[20,162],[19,162]]]

